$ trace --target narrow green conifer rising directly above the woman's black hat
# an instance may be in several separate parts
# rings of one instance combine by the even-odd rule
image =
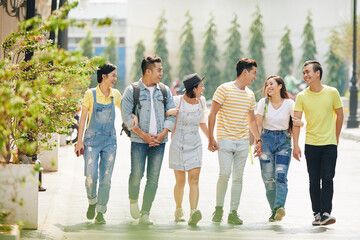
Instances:
[[[192,34],[192,17],[189,12],[185,15],[187,17],[186,23],[183,26],[183,32],[180,35],[180,66],[179,78],[183,79],[186,75],[194,73],[194,59],[195,59],[195,42]]]

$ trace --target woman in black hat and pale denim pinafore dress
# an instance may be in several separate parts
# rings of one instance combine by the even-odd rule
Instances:
[[[175,221],[184,222],[182,200],[188,172],[190,187],[191,214],[189,225],[196,225],[201,219],[201,212],[197,209],[199,201],[199,175],[202,163],[202,144],[199,127],[208,137],[206,125],[206,101],[202,92],[205,90],[202,79],[196,74],[188,75],[183,81],[186,92],[182,96],[174,97],[176,109],[167,114],[176,115],[176,123],[172,132],[169,152],[169,167],[174,169],[176,184],[174,198],[176,202]]]

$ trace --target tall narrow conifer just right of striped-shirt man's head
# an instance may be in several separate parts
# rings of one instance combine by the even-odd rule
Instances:
[[[263,49],[265,48],[264,43],[264,26],[262,23],[262,15],[260,13],[259,6],[256,6],[256,12],[253,14],[255,20],[250,26],[251,40],[249,45],[250,58],[257,61],[257,74],[255,82],[250,86],[251,89],[259,91],[265,82],[265,70],[264,70],[264,54]],[[260,96],[258,94],[257,96]],[[259,97],[257,97],[258,99]]]

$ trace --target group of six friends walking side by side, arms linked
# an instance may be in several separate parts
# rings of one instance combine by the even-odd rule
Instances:
[[[173,97],[169,88],[160,83],[163,76],[160,57],[145,57],[141,69],[143,77],[128,86],[121,96],[118,90],[112,88],[117,79],[116,66],[106,63],[97,71],[99,85],[87,90],[82,100],[75,153],[84,155],[88,219],[95,218],[95,223],[105,223],[104,214],[116,158],[114,120],[117,106],[121,109],[123,126],[130,132],[130,213],[134,219],[139,219],[140,224],[153,224],[150,210],[158,188],[169,133],[169,167],[174,170],[176,180],[175,221],[185,222],[182,201],[186,173],[191,208],[188,224],[195,226],[201,220],[198,201],[203,149],[199,128],[208,138],[208,150],[218,152],[219,177],[212,221],[221,222],[223,219],[224,198],[232,176],[227,222],[234,225],[243,223],[237,210],[249,153],[249,129],[254,136],[254,156],[259,157],[271,209],[269,221],[281,221],[285,216],[291,157],[298,161],[301,158],[298,140],[300,127],[304,125],[301,121],[303,113],[307,123],[304,153],[314,214],[312,225],[335,223],[336,219],[330,214],[343,108],[338,91],[321,82],[323,70],[318,61],[304,63],[303,78],[309,87],[297,95],[295,103],[289,98],[283,79],[269,76],[256,115],[254,93],[248,88],[256,79],[257,62],[254,60],[242,58],[236,63],[236,79],[216,89],[209,113],[202,96],[206,79],[196,73],[186,76],[184,94]],[[145,167],[146,185],[140,209],[140,182]]]

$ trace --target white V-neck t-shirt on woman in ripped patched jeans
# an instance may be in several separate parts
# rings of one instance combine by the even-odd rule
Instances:
[[[260,99],[257,108],[257,114],[264,115],[265,98]],[[263,120],[263,128],[268,130],[287,130],[289,128],[290,116],[294,117],[294,101],[284,99],[278,109],[274,109],[270,99],[268,110]]]

